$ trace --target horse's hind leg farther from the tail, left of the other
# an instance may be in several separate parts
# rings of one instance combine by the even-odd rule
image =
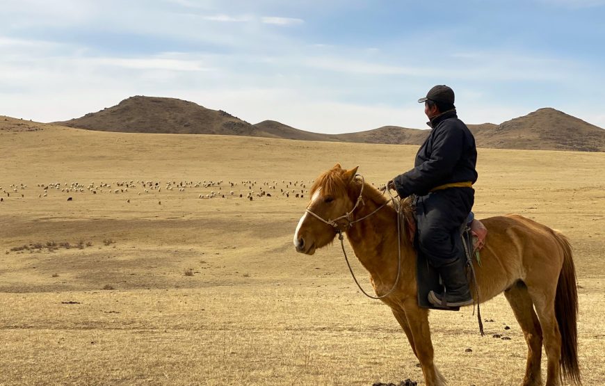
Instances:
[[[513,308],[515,318],[525,335],[527,342],[527,364],[523,386],[542,385],[542,372],[540,360],[542,358],[542,328],[540,321],[533,311],[533,303],[523,282],[518,282],[510,289],[504,291],[506,300]]]

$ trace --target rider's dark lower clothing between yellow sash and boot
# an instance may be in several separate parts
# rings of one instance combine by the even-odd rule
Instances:
[[[474,197],[473,188],[446,188],[417,198],[418,247],[433,267],[464,256],[460,225],[467,219]]]

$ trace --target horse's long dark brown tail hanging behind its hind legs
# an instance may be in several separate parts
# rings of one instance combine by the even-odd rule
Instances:
[[[561,369],[563,376],[574,385],[581,385],[578,366],[578,289],[572,248],[567,238],[558,232],[554,236],[563,249],[563,268],[559,273],[555,297],[555,316],[561,334]]]

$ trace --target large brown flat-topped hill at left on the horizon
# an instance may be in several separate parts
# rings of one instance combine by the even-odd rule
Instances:
[[[211,110],[181,99],[161,97],[129,97],[120,104],[97,113],[55,123],[81,129],[129,133],[273,137],[225,111]]]

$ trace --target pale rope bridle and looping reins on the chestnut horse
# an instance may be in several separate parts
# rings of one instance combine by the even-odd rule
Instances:
[[[307,207],[307,209],[305,209],[305,211],[308,214],[310,214],[310,215],[314,216],[315,218],[317,218],[318,220],[321,220],[323,223],[325,223],[327,225],[330,225],[331,227],[334,227],[334,230],[336,230],[336,232],[338,233],[338,239],[340,240],[340,246],[341,246],[342,252],[344,254],[344,259],[346,261],[346,265],[348,266],[348,270],[350,271],[351,276],[353,276],[353,280],[355,280],[355,284],[357,284],[357,287],[359,287],[359,289],[362,291],[362,293],[364,293],[364,295],[367,296],[368,298],[382,299],[382,298],[386,298],[387,296],[389,296],[395,290],[395,288],[397,287],[397,284],[399,282],[399,275],[401,274],[401,221],[400,221],[400,218],[401,218],[401,216],[400,216],[400,214],[401,214],[401,199],[398,200],[398,201],[395,200],[395,198],[391,194],[391,191],[389,189],[389,184],[387,182],[385,191],[387,193],[389,193],[390,200],[387,200],[387,202],[385,202],[384,204],[380,205],[380,207],[378,207],[378,209],[372,211],[371,214],[363,216],[362,218],[358,218],[357,220],[353,220],[352,219],[352,215],[353,215],[353,212],[355,211],[355,209],[357,209],[357,207],[359,207],[360,203],[365,204],[364,200],[362,198],[363,194],[364,194],[364,185],[365,185],[364,176],[362,176],[362,175],[355,175],[355,177],[361,177],[362,178],[362,188],[361,188],[359,197],[357,197],[357,201],[355,201],[355,205],[353,206],[353,209],[351,209],[350,211],[346,212],[342,216],[334,218],[334,220],[330,220],[330,219],[325,220],[321,216],[318,216],[317,214],[314,214],[312,211],[310,211],[309,207]],[[355,273],[353,273],[353,268],[351,268],[350,263],[348,262],[348,257],[346,255],[346,251],[344,250],[344,241],[343,241],[344,240],[344,236],[342,235],[343,230],[341,229],[341,226],[337,224],[337,221],[342,220],[342,219],[348,221],[348,225],[344,229],[344,231],[346,232],[346,230],[348,230],[348,228],[350,228],[350,227],[353,227],[353,225],[355,223],[359,223],[360,221],[365,220],[369,216],[372,216],[377,211],[379,211],[380,209],[382,209],[383,207],[385,207],[389,202],[393,202],[393,206],[395,207],[395,211],[397,212],[397,252],[398,252],[397,277],[395,279],[393,287],[391,287],[391,289],[389,289],[389,291],[387,293],[384,293],[384,294],[382,294],[380,296],[371,296],[369,293],[367,293],[366,291],[364,291],[364,289],[360,285],[360,282],[358,282],[357,278],[355,278]]]

